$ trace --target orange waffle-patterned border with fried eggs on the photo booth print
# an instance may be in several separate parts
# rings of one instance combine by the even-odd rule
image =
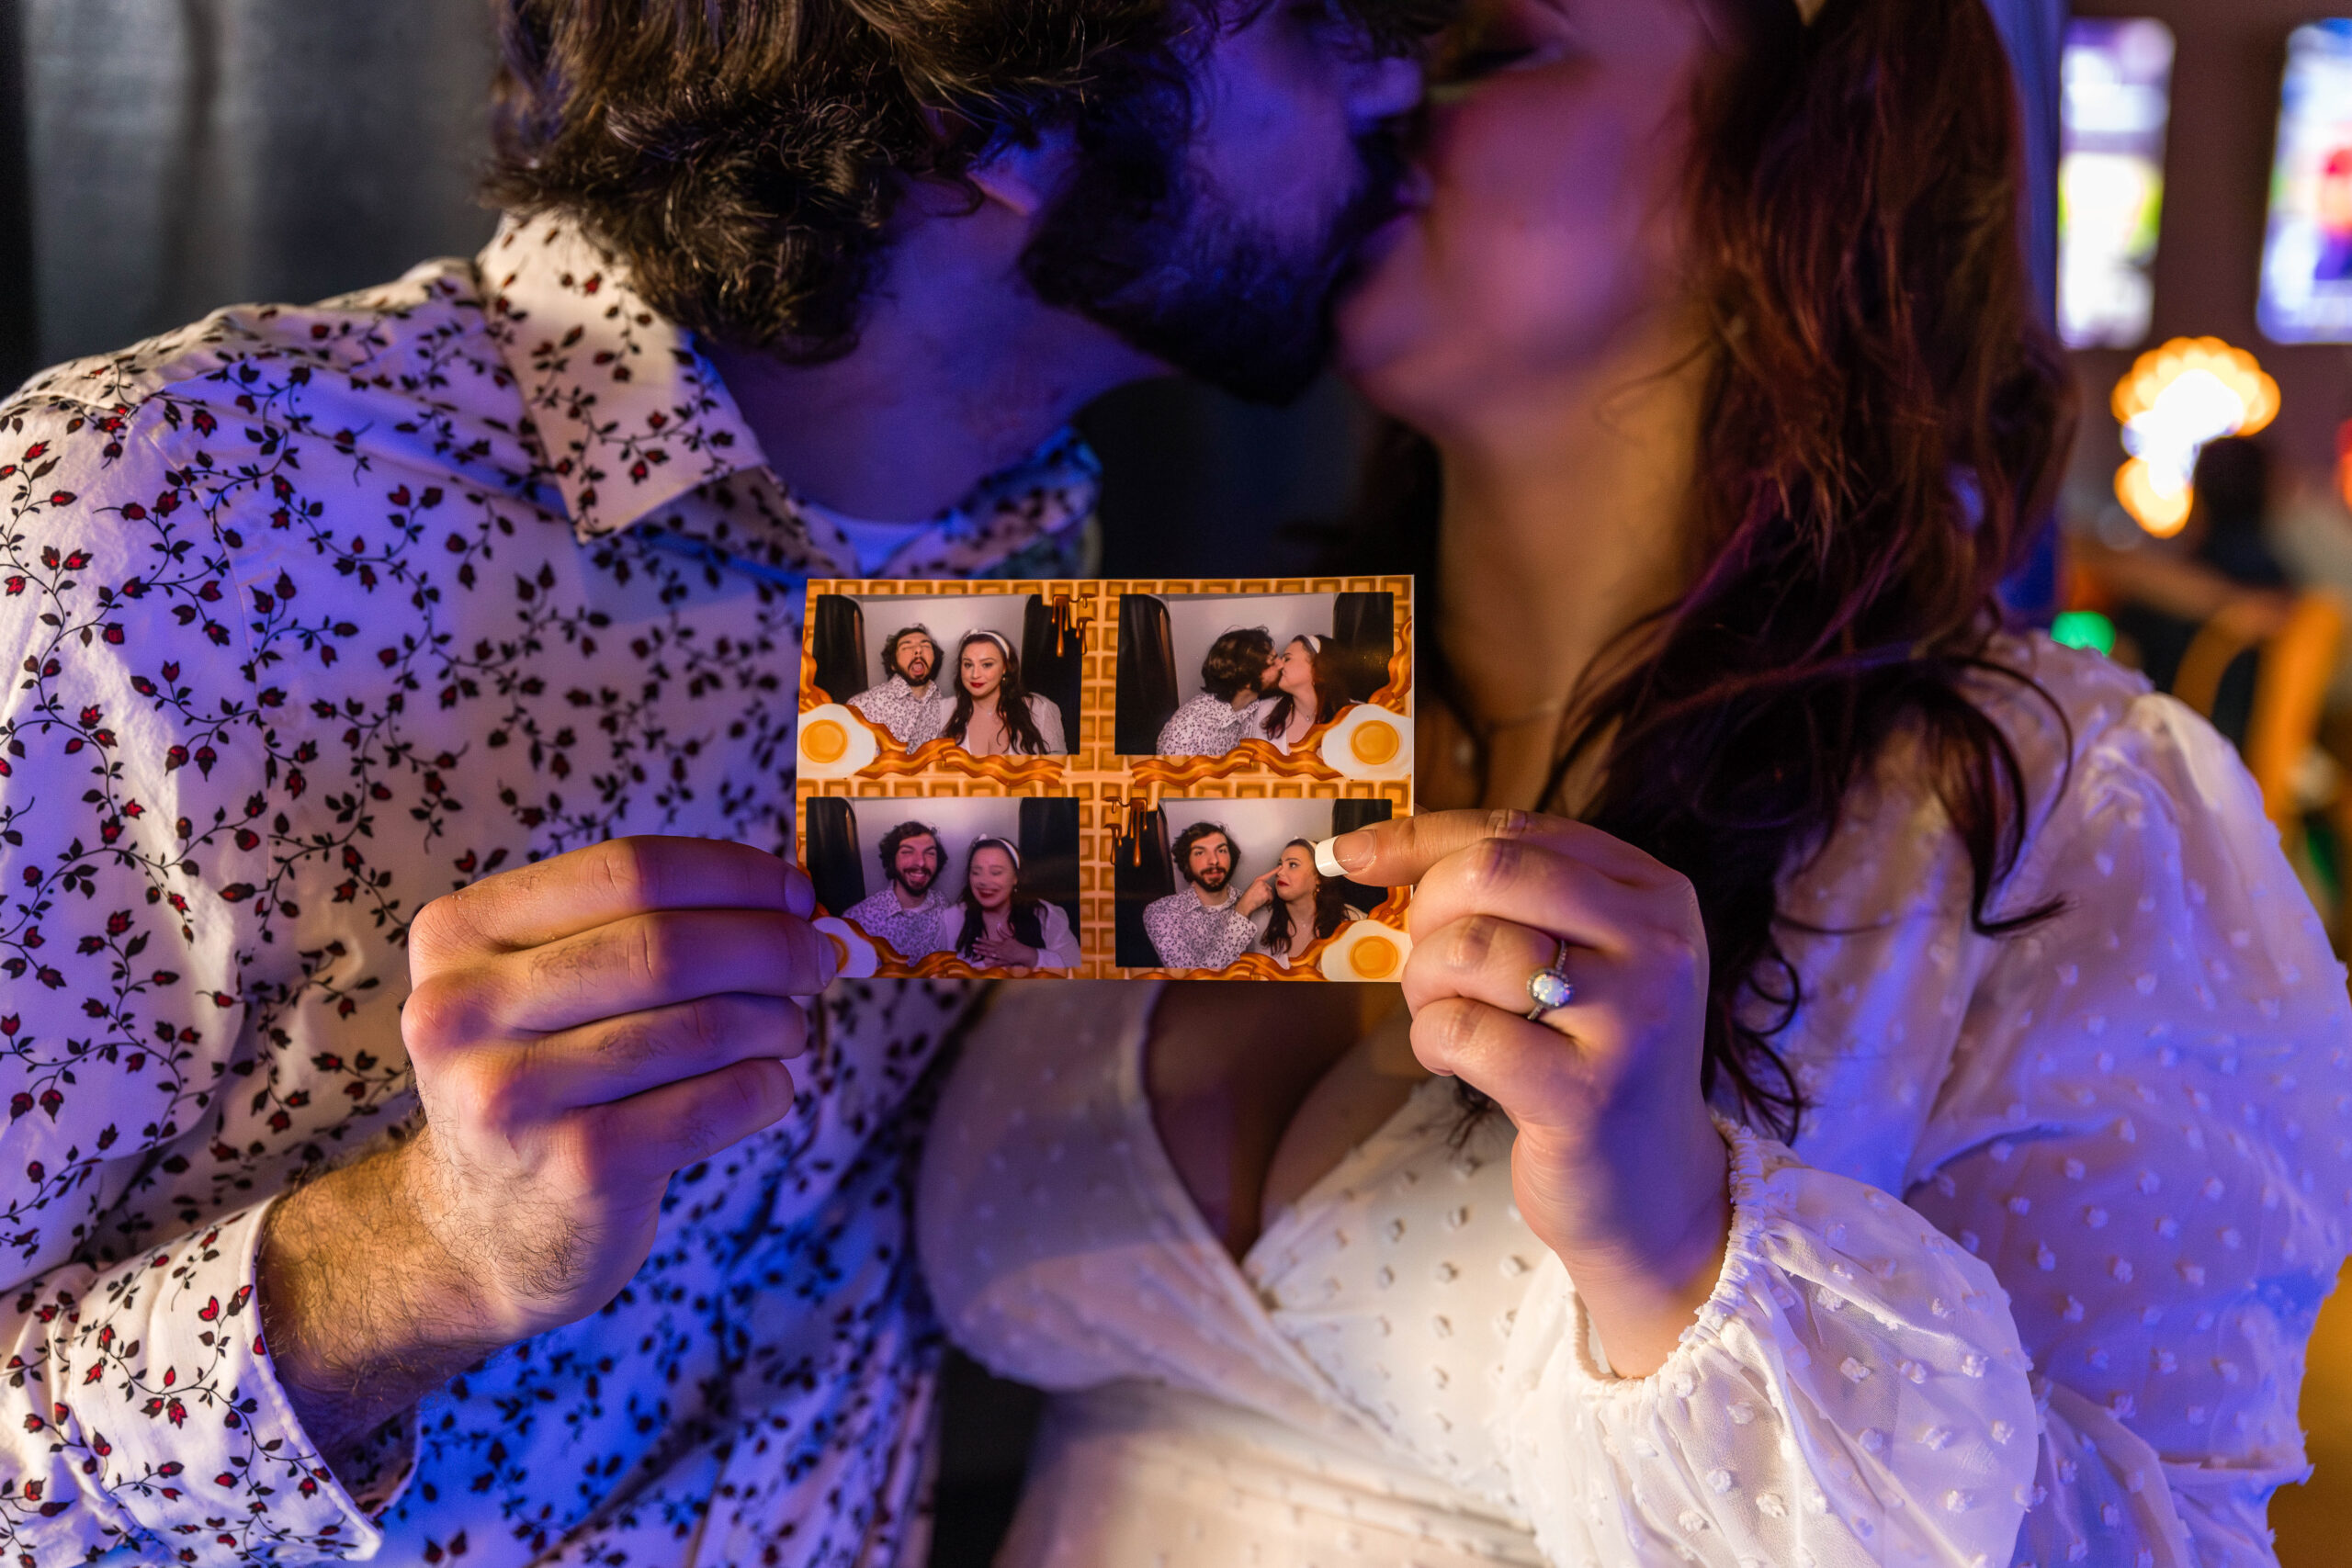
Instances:
[[[1122,618],[1129,599],[1202,602],[1230,597],[1232,623],[1249,621],[1247,599],[1331,597],[1352,616],[1355,654],[1371,646],[1371,595],[1388,602],[1388,651],[1378,668],[1355,675],[1350,696],[1364,693],[1345,710],[1317,724],[1282,755],[1268,741],[1244,741],[1221,757],[1157,757],[1127,752],[1120,745],[1122,686],[1134,693],[1136,675],[1122,679]],[[882,724],[875,724],[851,701],[882,682],[866,661],[866,625],[887,616],[887,628],[927,623],[922,599],[1007,597],[1002,625],[1018,625],[1007,637],[1023,651],[1023,665],[1037,654],[1063,689],[1075,693],[1061,722],[1065,755],[1054,757],[974,757],[946,738],[913,748]],[[955,679],[955,637],[934,628],[941,639],[936,677]],[[1277,628],[1279,635],[1279,628]],[[856,639],[856,661],[847,649]],[[1028,670],[1025,670],[1028,672]],[[1350,820],[1364,816],[1409,816],[1414,811],[1414,585],[1411,578],[1329,576],[1329,578],[1155,578],[1155,581],[816,581],[809,583],[809,625],[800,670],[800,844],[809,849],[809,802],[837,797],[856,802],[856,818],[870,820],[870,809],[903,802],[908,816],[920,816],[927,799],[1063,799],[1077,811],[1077,905],[1080,950],[1084,961],[1073,978],[1230,978],[1230,980],[1395,980],[1411,952],[1404,931],[1409,891],[1367,891],[1350,900],[1367,919],[1317,940],[1289,969],[1270,954],[1244,952],[1223,971],[1169,971],[1160,966],[1122,966],[1120,959],[1120,856],[1127,856],[1129,882],[1141,856],[1164,853],[1152,846],[1148,823],[1162,802],[1235,802],[1237,820],[1247,802],[1359,802],[1341,809]],[[858,686],[858,682],[866,682]],[[1183,693],[1197,686],[1197,670],[1178,670]],[[858,686],[840,691],[837,686]],[[1367,691],[1367,686],[1371,686]],[[1035,691],[1035,686],[1033,686]],[[1131,726],[1134,729],[1134,726]],[[1134,736],[1129,736],[1131,741]],[[1237,825],[1235,835],[1244,830]],[[866,856],[861,877],[873,877],[873,844],[856,844]],[[837,849],[833,853],[840,853]],[[818,872],[809,865],[811,877]],[[948,884],[962,886],[962,865],[950,867]],[[1134,900],[1129,900],[1134,903]],[[1134,912],[1129,912],[1134,924]],[[866,940],[826,910],[821,922],[844,952],[847,973],[981,978],[981,971],[955,954],[891,954],[887,945]],[[1129,950],[1127,957],[1134,957]],[[997,973],[997,971],[990,971]]]

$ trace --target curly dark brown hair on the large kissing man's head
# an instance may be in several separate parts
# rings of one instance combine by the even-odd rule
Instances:
[[[1383,49],[1444,5],[1331,2]],[[673,322],[816,364],[856,348],[908,179],[1063,125],[1082,148],[1181,141],[1197,52],[1263,5],[496,0],[485,193],[574,216]]]

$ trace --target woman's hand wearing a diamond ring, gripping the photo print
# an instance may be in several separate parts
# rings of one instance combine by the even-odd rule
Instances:
[[[1416,889],[1414,1053],[1512,1119],[1519,1213],[1569,1267],[1611,1366],[1656,1371],[1731,1232],[1700,1093],[1708,931],[1691,884],[1597,827],[1524,811],[1402,818],[1331,853],[1355,882]],[[1573,997],[1531,1020],[1529,980],[1555,959]]]

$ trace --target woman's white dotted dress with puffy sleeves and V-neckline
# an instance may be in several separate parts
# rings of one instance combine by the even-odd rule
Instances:
[[[1618,1380],[1423,1086],[1235,1265],[1143,1093],[1155,992],[1014,987],[917,1232],[953,1338],[1056,1399],[1000,1568],[2260,1566],[2343,1260],[2352,1006],[2237,757],[2138,677],[2009,644],[2034,780],[1994,912],[1889,757],[1783,889],[1811,1098],[1733,1140],[1698,1324]],[[2063,790],[2060,778],[2065,780]],[[1900,1194],[1900,1201],[1898,1197]]]

